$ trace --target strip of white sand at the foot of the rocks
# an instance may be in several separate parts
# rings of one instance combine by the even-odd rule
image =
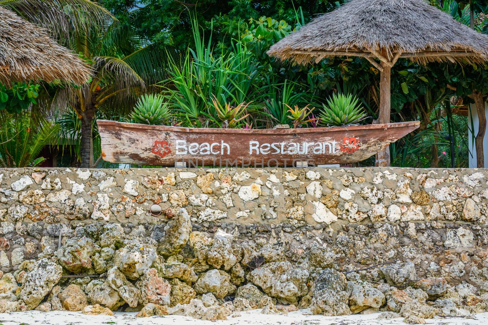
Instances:
[[[320,315],[306,314],[306,310],[294,311],[288,315],[264,315],[261,309],[241,312],[239,317],[228,317],[226,321],[202,321],[183,316],[154,316],[154,317],[134,317],[136,313],[118,312],[115,316],[88,316],[81,312],[69,311],[27,311],[18,313],[0,314],[0,325],[405,325],[403,318],[397,319],[378,319],[379,313],[369,315],[350,315],[340,317],[325,317]],[[436,325],[487,325],[488,313],[476,314],[470,316],[473,318],[438,318],[427,320],[427,324]]]

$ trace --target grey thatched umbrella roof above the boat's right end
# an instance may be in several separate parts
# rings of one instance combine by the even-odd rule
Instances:
[[[351,0],[280,40],[268,55],[299,64],[341,55],[479,62],[488,58],[488,36],[423,0]]]

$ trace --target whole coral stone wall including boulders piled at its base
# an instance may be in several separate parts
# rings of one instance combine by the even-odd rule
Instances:
[[[0,312],[215,320],[310,307],[423,323],[487,311],[487,181],[468,169],[0,169]]]

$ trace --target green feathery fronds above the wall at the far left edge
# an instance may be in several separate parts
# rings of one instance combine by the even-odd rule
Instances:
[[[0,116],[0,167],[22,168],[39,165],[39,153],[56,138],[59,126],[47,120],[35,124],[31,112]]]

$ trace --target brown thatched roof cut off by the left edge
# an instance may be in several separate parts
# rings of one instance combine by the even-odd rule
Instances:
[[[90,70],[47,32],[0,6],[0,83],[60,79],[82,84]]]

